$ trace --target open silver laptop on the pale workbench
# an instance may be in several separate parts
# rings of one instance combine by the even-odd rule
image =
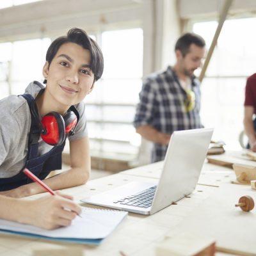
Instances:
[[[213,129],[175,131],[159,182],[129,182],[81,201],[114,209],[154,214],[192,193],[204,164]]]

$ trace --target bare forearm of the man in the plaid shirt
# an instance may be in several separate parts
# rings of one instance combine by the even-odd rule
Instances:
[[[154,143],[168,144],[171,138],[170,134],[159,132],[150,125],[141,125],[136,128],[136,132]]]

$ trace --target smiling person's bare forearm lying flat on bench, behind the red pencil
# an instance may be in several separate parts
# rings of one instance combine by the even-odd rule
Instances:
[[[82,170],[81,168],[72,168],[65,172],[61,172],[58,175],[52,176],[49,179],[45,179],[44,183],[47,184],[52,190],[70,188],[85,184],[89,179],[90,170]],[[3,195],[12,197],[24,197],[35,195],[45,192],[39,184],[33,182],[19,188],[15,188],[9,191],[5,191]]]

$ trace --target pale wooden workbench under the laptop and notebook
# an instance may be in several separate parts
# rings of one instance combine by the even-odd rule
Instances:
[[[79,202],[85,196],[127,182],[159,179],[161,166],[163,162],[149,164],[90,180],[83,186],[63,191],[73,195]],[[57,243],[0,234],[0,255],[154,256],[158,243],[184,230],[191,234],[200,233],[213,237],[217,246],[221,248],[239,250],[245,253],[244,255],[256,255],[256,209],[243,212],[234,207],[239,197],[243,195],[251,195],[256,200],[256,191],[250,186],[231,184],[230,180],[234,179],[236,176],[230,168],[205,162],[198,181],[200,185],[196,186],[191,198],[183,198],[177,202],[177,205],[170,205],[152,216],[129,213],[128,217],[100,245]],[[42,195],[33,197],[38,196]],[[227,254],[216,253],[216,255]]]

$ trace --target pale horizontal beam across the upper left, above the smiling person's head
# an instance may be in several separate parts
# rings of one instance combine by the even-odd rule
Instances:
[[[61,3],[61,4],[60,4]],[[0,10],[0,42],[33,36],[51,36],[68,28],[86,31],[108,24],[141,19],[140,1],[45,0]]]

